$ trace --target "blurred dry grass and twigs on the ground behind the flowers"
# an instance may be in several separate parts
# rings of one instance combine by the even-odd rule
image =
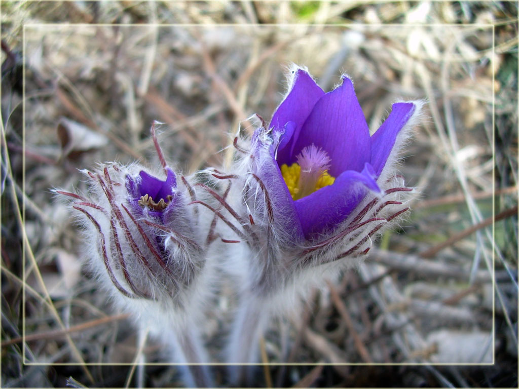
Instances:
[[[358,270],[271,322],[254,385],[517,386],[517,3],[0,6],[2,387],[182,385],[98,293],[50,188],[84,191],[96,162],[157,164],[154,120],[179,171],[221,165],[291,62],[325,91],[352,77],[372,132],[393,102],[427,101],[400,168],[420,196]],[[215,362],[234,303],[224,287],[203,325]]]

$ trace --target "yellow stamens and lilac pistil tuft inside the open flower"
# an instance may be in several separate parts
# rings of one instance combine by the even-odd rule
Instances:
[[[330,157],[323,149],[313,144],[307,146],[296,160],[290,166],[281,165],[281,174],[293,200],[299,200],[334,183],[335,177],[328,174]]]

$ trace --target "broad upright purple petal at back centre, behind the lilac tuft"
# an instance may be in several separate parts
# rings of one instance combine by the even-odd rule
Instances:
[[[346,170],[360,172],[370,162],[370,130],[349,78],[343,77],[343,85],[326,93],[313,107],[297,138],[293,161],[312,143],[328,153],[329,172],[334,177]]]

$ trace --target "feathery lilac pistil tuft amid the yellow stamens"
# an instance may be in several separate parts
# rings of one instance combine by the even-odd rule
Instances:
[[[297,164],[301,166],[297,199],[311,195],[316,191],[317,182],[321,175],[330,168],[331,159],[327,152],[312,143],[306,146],[296,157]]]

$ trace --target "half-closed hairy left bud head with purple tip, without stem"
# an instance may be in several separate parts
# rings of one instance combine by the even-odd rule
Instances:
[[[175,173],[167,166],[164,171],[160,179],[138,165],[104,164],[84,171],[87,196],[57,192],[75,199],[73,208],[84,216],[100,279],[125,298],[179,306],[204,257],[186,207],[191,187],[183,178],[179,190]]]

